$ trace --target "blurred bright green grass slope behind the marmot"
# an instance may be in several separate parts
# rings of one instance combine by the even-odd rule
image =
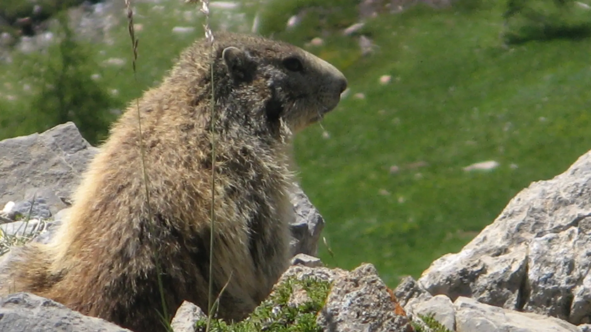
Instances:
[[[434,259],[461,249],[531,181],[563,172],[591,149],[591,40],[547,35],[542,27],[535,38],[506,47],[499,38],[503,4],[464,1],[369,20],[357,35],[369,36],[376,48],[362,57],[356,36],[340,34],[356,22],[354,3],[275,1],[261,13],[260,31],[302,47],[322,35],[324,45],[309,50],[348,77],[351,91],[324,119],[324,129],[314,125],[296,139],[301,184],[326,219],[323,235],[335,256],[320,245],[323,261],[346,269],[374,263],[394,287],[400,276],[417,277]],[[121,108],[157,84],[178,52],[202,36],[199,20],[184,20],[183,12],[195,6],[160,5],[163,11],[137,5],[139,87],[123,15],[113,45],[89,45],[99,83],[118,90]],[[287,19],[304,6],[308,16],[285,31]],[[257,8],[248,7],[245,22]],[[235,22],[230,30],[249,30],[219,9],[212,14],[213,30],[223,22]],[[177,25],[196,29],[173,34]],[[127,62],[104,65],[111,57]],[[15,68],[0,66],[0,96],[15,96],[0,99],[0,108],[22,114],[38,90],[24,92],[29,81]],[[391,83],[379,84],[382,75],[391,75]],[[15,133],[18,122],[2,118],[0,135]],[[489,172],[462,170],[485,160],[500,165]],[[419,161],[426,165],[413,167]],[[393,165],[400,171],[392,174]]]

